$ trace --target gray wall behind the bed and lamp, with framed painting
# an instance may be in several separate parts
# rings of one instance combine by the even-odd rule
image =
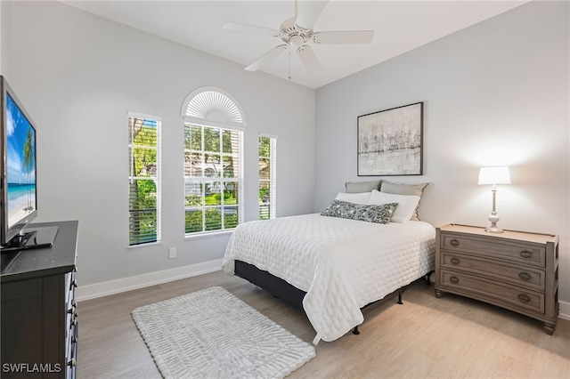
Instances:
[[[365,181],[356,117],[424,101],[422,220],[486,225],[479,167],[509,165],[500,226],[560,235],[559,298],[570,301],[569,3],[532,2],[316,91],[315,211]],[[377,36],[379,38],[386,36]]]

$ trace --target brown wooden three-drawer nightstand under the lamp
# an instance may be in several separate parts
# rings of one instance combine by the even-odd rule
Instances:
[[[450,224],[436,233],[436,297],[449,292],[539,319],[558,318],[558,236]]]

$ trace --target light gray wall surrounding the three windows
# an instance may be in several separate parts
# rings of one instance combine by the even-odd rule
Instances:
[[[12,4],[11,85],[37,123],[37,221],[79,220],[80,285],[221,259],[229,235],[184,240],[183,100],[216,86],[247,122],[246,220],[257,135],[278,137],[278,215],[314,208],[314,91],[59,2]],[[294,109],[294,111],[291,111]],[[128,249],[127,112],[162,117],[163,243]],[[178,257],[168,259],[168,247]]]

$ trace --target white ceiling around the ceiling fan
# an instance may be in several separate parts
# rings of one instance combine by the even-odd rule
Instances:
[[[442,36],[509,11],[525,1],[330,0],[314,31],[375,30],[371,44],[313,44],[322,70],[307,72],[294,50],[260,69],[309,88],[327,85]],[[139,28],[203,52],[248,66],[274,46],[272,36],[235,32],[225,22],[279,29],[294,17],[292,0],[63,1],[87,12]]]

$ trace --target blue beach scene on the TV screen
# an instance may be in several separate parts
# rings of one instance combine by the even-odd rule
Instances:
[[[8,227],[36,210],[36,131],[6,97]]]

